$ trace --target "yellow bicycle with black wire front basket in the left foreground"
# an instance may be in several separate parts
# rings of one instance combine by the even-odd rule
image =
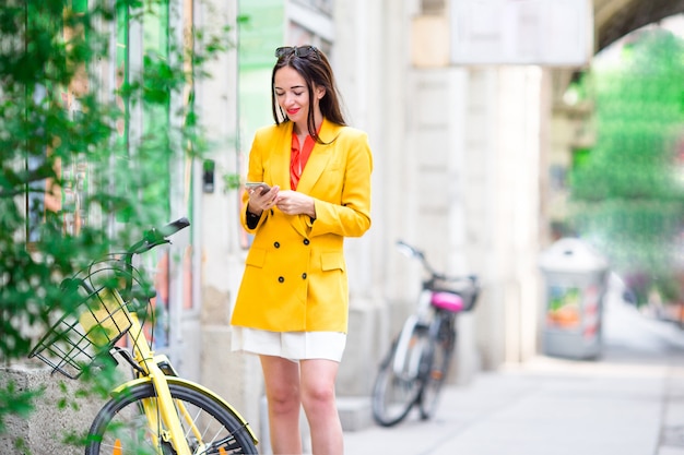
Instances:
[[[257,454],[257,438],[226,400],[179,378],[169,359],[155,355],[144,333],[154,290],[132,259],[189,226],[180,218],[146,231],[122,254],[93,262],[64,280],[76,292],[76,311],[62,314],[30,354],[76,379],[102,359],[122,358],[133,378],[111,391],[111,399],[90,428],[85,455]],[[145,319],[143,319],[145,318]],[[127,335],[128,343],[123,342]]]

